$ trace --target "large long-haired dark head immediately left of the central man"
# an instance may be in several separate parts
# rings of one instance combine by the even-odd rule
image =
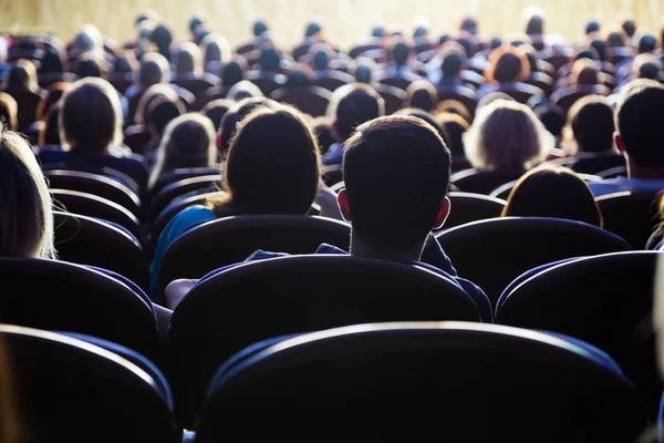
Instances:
[[[320,181],[319,146],[289,106],[261,107],[238,128],[225,163],[230,203],[243,214],[303,215]]]

